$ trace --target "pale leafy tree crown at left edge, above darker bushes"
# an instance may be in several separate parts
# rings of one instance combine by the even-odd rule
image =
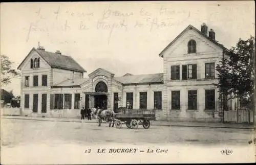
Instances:
[[[6,55],[1,56],[1,84],[7,85],[11,83],[11,79],[20,77],[19,70],[12,68],[13,62]]]

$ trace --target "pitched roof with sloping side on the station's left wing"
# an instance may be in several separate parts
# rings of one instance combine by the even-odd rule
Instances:
[[[71,56],[65,56],[35,48],[33,48],[30,52],[32,51],[36,51],[51,67],[86,72],[86,70],[84,70]],[[22,61],[22,63],[27,59],[27,57]],[[22,63],[20,63],[18,68],[22,65]]]

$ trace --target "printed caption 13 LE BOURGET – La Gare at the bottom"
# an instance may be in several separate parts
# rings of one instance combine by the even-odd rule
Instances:
[[[91,149],[84,150],[84,153],[91,153]],[[167,153],[168,149],[137,149],[137,148],[99,148],[96,153]]]

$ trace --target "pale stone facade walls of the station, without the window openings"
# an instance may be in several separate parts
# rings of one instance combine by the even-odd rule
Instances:
[[[206,28],[207,31],[207,28]],[[133,93],[133,109],[140,108],[140,92],[146,92],[146,109],[155,109],[154,92],[161,92],[161,109],[156,110],[157,120],[168,121],[207,121],[218,122],[220,116],[219,110],[219,93],[214,83],[217,83],[217,71],[211,78],[206,77],[206,64],[214,63],[214,67],[220,64],[221,58],[226,56],[226,49],[215,41],[215,33],[213,38],[209,38],[207,34],[201,33],[193,26],[188,26],[173,42],[171,42],[159,56],[163,58],[163,74],[153,75],[131,75],[126,74],[123,78],[116,78],[113,73],[108,70],[98,68],[91,74],[89,78],[83,79],[83,72],[76,69],[62,69],[52,67],[40,57],[36,51],[30,52],[27,60],[23,61],[20,65],[22,70],[21,80],[21,103],[22,112],[24,115],[42,115],[42,94],[47,94],[47,104],[45,116],[49,117],[78,117],[80,115],[81,107],[93,108],[96,102],[96,95],[105,95],[107,108],[114,109],[114,103],[118,102],[118,107],[126,107],[127,98],[126,93]],[[211,35],[211,36],[212,36]],[[196,42],[196,51],[189,52],[188,45],[190,41]],[[194,45],[195,46],[195,45]],[[194,48],[194,49],[195,49]],[[39,68],[30,68],[30,59],[40,58]],[[172,78],[172,66],[176,66],[179,69],[179,78],[175,80]],[[184,67],[186,65],[186,67]],[[194,68],[194,78],[189,79],[189,69],[186,69],[184,79],[184,68],[188,68],[188,65],[196,65]],[[184,67],[184,68],[183,68]],[[33,86],[34,75],[38,76],[38,86]],[[47,86],[42,86],[42,75],[48,75]],[[25,86],[25,77],[29,76],[29,86]],[[137,77],[136,77],[137,76]],[[138,77],[139,76],[139,77]],[[124,78],[125,77],[125,78]],[[137,80],[139,78],[143,78]],[[158,79],[156,79],[158,78]],[[160,79],[159,79],[160,78]],[[133,81],[131,81],[133,79]],[[122,80],[122,81],[121,81]],[[146,80],[146,81],[145,81]],[[106,87],[106,92],[96,92],[96,86],[98,83],[103,82]],[[206,90],[214,90],[214,109],[207,109],[206,106]],[[190,90],[196,91],[196,101],[193,104],[196,106],[193,109],[188,107],[188,92]],[[173,108],[172,105],[172,93],[173,91],[179,91],[179,104],[180,107]],[[75,100],[75,96],[79,93],[80,98]],[[118,93],[118,94],[117,94]],[[25,108],[25,95],[29,94],[29,108]],[[33,113],[33,95],[38,94],[38,107],[37,112]],[[55,109],[55,103],[51,103],[51,95],[55,94],[70,94],[71,96],[71,108],[59,108]],[[89,101],[86,101],[87,95]],[[118,95],[118,99],[114,99],[114,95]],[[65,98],[65,97],[63,97]],[[195,98],[195,97],[194,97]],[[77,98],[76,98],[77,99]],[[65,101],[63,101],[65,102]],[[79,107],[75,109],[75,102],[79,102]],[[61,102],[62,103],[62,102]],[[54,104],[53,108],[51,105]],[[64,103],[63,103],[64,104]],[[191,102],[190,102],[191,104]]]

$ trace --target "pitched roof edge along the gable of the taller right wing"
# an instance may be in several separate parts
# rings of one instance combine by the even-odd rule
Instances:
[[[161,53],[159,53],[159,56],[160,56],[160,57],[163,57],[163,52],[164,52],[166,49],[168,49],[172,44],[174,44],[174,42],[175,42],[176,40],[178,40],[184,33],[186,33],[186,32],[187,32],[188,30],[190,30],[190,29],[194,29],[196,32],[198,32],[200,35],[204,36],[204,37],[205,37],[206,39],[208,39],[209,41],[211,41],[211,42],[215,43],[216,45],[220,46],[220,48],[222,48],[223,50],[229,52],[229,50],[228,50],[227,48],[225,48],[225,46],[223,46],[223,44],[220,44],[220,43],[217,42],[216,40],[213,40],[213,39],[211,39],[210,37],[204,35],[200,30],[198,30],[198,29],[195,28],[194,26],[189,25],[189,26],[187,26],[187,28],[184,29],[172,42],[170,42],[170,43],[163,49],[163,51],[162,51]]]

